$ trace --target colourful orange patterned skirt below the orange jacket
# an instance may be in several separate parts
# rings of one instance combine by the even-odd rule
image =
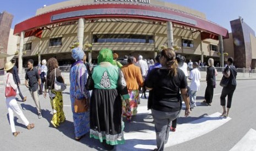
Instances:
[[[122,111],[123,117],[127,120],[132,120],[132,115],[137,114],[138,100],[139,100],[139,90],[128,90],[130,96],[130,111],[126,111],[126,101],[122,100]]]

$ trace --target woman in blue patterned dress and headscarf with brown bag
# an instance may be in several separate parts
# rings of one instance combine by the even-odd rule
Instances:
[[[83,62],[84,55],[81,48],[72,49],[72,57],[76,62],[70,69],[70,101],[77,141],[90,131],[90,93],[85,89],[88,71]]]

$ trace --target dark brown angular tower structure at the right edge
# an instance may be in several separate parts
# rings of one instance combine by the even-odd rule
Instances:
[[[238,68],[255,69],[256,66],[256,38],[255,32],[242,18],[230,21],[232,33],[224,40],[224,50],[227,57],[234,58]]]

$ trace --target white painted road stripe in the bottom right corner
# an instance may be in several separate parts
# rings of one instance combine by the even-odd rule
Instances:
[[[249,151],[256,150],[256,131],[250,129],[246,135],[230,151]]]

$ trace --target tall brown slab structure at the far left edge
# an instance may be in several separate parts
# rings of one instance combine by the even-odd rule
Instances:
[[[3,11],[0,13],[0,51],[7,54],[10,27],[12,26],[13,15]],[[17,43],[17,41],[15,41]],[[4,67],[6,59],[0,59],[0,69]]]

